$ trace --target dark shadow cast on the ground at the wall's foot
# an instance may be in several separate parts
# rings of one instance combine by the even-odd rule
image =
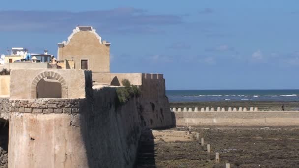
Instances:
[[[155,168],[154,139],[151,130],[142,133],[135,168]]]

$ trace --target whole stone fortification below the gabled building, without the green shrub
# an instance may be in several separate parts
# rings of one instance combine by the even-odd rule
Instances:
[[[9,118],[8,167],[132,168],[142,130],[173,127],[175,116],[163,75],[107,74],[116,86],[93,86],[87,70],[12,70],[10,97],[0,99],[7,130]],[[126,78],[141,93],[120,103]]]

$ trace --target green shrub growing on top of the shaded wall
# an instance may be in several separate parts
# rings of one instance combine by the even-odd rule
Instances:
[[[121,84],[124,87],[116,88],[116,93],[118,95],[120,104],[126,103],[131,97],[138,97],[140,95],[141,91],[138,86],[131,84],[129,80],[123,79]]]

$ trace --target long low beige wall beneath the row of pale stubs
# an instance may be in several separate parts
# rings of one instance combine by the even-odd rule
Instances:
[[[299,111],[175,112],[177,126],[298,126]]]

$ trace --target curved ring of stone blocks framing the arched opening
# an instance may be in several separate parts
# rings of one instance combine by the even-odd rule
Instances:
[[[36,88],[37,88],[37,84],[41,79],[44,79],[46,77],[51,77],[54,78],[56,80],[58,80],[61,84],[61,98],[67,98],[67,84],[65,82],[65,80],[63,79],[63,77],[54,71],[45,71],[42,72],[38,75],[35,76],[35,78],[33,79],[32,83],[31,83],[31,98],[32,99],[36,99]]]

